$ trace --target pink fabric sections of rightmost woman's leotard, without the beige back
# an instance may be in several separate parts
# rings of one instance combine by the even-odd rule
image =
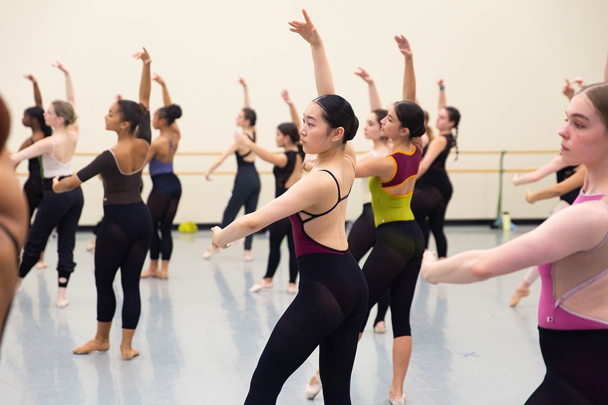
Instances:
[[[573,202],[573,205],[587,201],[598,201],[599,203],[602,203],[604,206],[606,206],[606,209],[608,209],[608,205],[606,205],[606,203],[599,201],[607,195],[608,194],[586,196],[584,192],[581,191],[581,194],[579,194],[579,196]],[[599,249],[605,250],[606,246],[604,245],[606,244],[607,240],[608,234],[606,235],[604,240],[599,243],[597,247],[587,252],[579,252],[575,254],[593,254]],[[606,265],[606,262],[608,261],[603,257],[598,257],[598,259],[604,261],[603,264],[598,263],[601,266]],[[600,279],[602,279],[602,277],[608,276],[608,268],[603,271],[601,271],[600,268],[599,273],[595,271],[596,274],[590,274],[589,278],[587,278],[585,281],[579,282],[579,284],[576,284],[575,287],[572,287],[571,285],[567,288],[567,291],[563,291],[564,288],[562,288],[562,294],[558,297],[558,294],[554,292],[556,291],[556,288],[558,286],[558,283],[554,279],[554,270],[556,269],[556,265],[558,263],[559,260],[558,262],[541,265],[538,268],[542,280],[541,298],[538,307],[539,326],[547,329],[556,330],[608,329],[608,322],[606,320],[596,319],[591,316],[582,315],[581,313],[577,313],[576,311],[568,310],[567,306],[564,305],[564,301],[573,296],[573,294],[577,293],[585,287],[589,287],[589,285],[599,281]],[[573,272],[576,272],[576,270],[576,268],[572,268]],[[581,268],[581,271],[579,271],[579,273],[582,272],[583,270]],[[604,279],[601,282],[605,281],[606,280]],[[606,299],[608,299],[608,297]]]

